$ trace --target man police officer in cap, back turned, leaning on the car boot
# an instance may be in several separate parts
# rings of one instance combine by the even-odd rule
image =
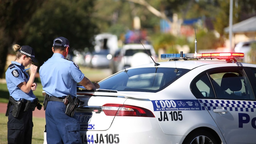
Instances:
[[[80,124],[72,115],[66,113],[64,99],[69,95],[76,105],[77,83],[88,90],[99,88],[99,84],[92,83],[78,65],[65,59],[69,52],[69,41],[66,38],[54,39],[52,51],[53,56],[39,69],[47,97],[44,102],[47,143],[81,143]]]

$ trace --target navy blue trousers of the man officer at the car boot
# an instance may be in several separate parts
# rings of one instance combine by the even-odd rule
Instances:
[[[48,144],[80,144],[78,120],[65,114],[63,102],[49,101],[45,110],[46,139]]]

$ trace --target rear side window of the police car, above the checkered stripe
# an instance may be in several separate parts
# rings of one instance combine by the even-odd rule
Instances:
[[[208,75],[209,78],[207,75],[202,75],[192,83],[191,90],[194,95],[197,94],[195,95],[197,98],[255,99],[249,81],[243,72],[210,72]],[[200,92],[196,92],[197,89]]]

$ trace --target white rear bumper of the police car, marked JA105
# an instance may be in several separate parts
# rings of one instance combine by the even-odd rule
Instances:
[[[164,134],[155,118],[139,118],[138,121],[135,121],[134,117],[125,119],[126,121],[122,121],[124,120],[122,116],[116,116],[110,128],[105,131],[81,130],[82,143],[176,144],[182,143],[185,138],[185,136]]]

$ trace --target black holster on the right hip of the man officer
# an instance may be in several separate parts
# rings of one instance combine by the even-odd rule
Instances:
[[[75,109],[78,107],[78,105],[80,103],[80,100],[77,97],[72,99],[72,96],[68,95],[66,97],[65,101],[68,101],[67,102],[68,104],[67,104],[67,107],[66,107],[66,110],[65,110],[65,114],[70,116],[70,117],[73,117],[74,113],[75,113]]]

